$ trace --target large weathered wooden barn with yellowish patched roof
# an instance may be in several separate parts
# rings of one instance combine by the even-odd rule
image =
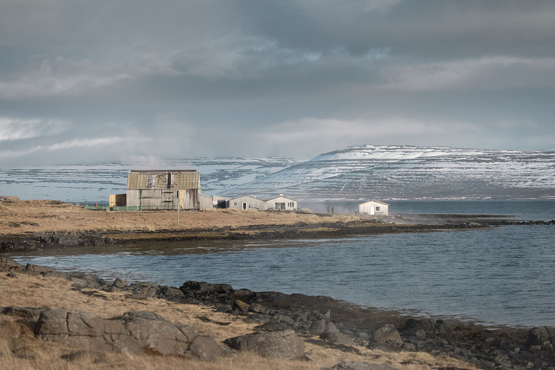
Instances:
[[[196,170],[133,170],[127,175],[127,206],[139,210],[200,209]]]

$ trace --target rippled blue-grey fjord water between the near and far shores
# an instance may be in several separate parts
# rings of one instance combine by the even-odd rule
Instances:
[[[534,205],[529,211],[536,212],[534,219],[553,218],[554,201],[534,203],[503,202],[491,211],[472,213],[512,214],[519,219],[519,210]],[[456,213],[443,209],[437,212]],[[170,286],[187,280],[230,283],[254,291],[325,295],[486,323],[555,326],[552,225],[336,239],[157,242],[11,257],[104,278]]]

